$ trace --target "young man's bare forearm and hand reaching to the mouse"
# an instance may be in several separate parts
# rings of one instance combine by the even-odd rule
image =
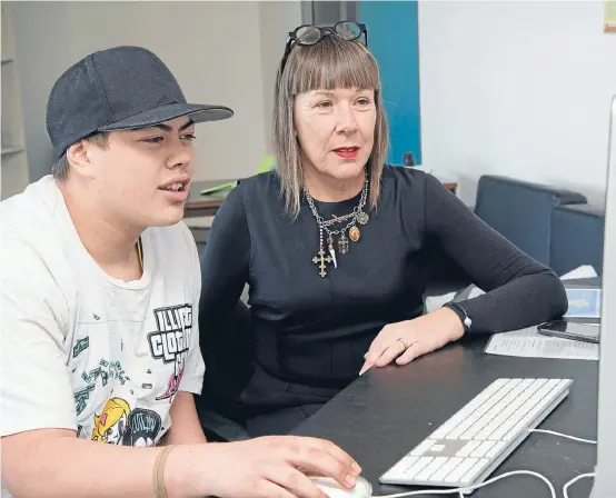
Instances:
[[[162,448],[132,448],[41,429],[1,438],[2,479],[21,498],[153,497],[152,472]],[[302,471],[350,488],[360,468],[334,444],[301,437],[179,445],[163,469],[167,496],[326,498]]]

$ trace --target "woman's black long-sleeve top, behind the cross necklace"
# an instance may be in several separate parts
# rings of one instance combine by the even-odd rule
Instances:
[[[444,268],[486,291],[460,302],[473,321],[468,333],[514,330],[566,311],[559,278],[434,177],[386,167],[380,188],[359,240],[337,253],[338,268],[327,265],[325,278],[312,262],[317,222],[306,199],[296,220],[285,212],[276,172],[242,180],[219,209],[202,258],[201,348],[216,368],[218,338],[229,332],[248,283],[256,371],[246,404],[270,409],[332,397],[357,377],[385,325],[423,313],[424,292]],[[358,201],[315,203],[329,219]]]

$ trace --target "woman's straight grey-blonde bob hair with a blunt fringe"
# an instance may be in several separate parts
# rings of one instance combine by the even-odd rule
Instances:
[[[295,133],[295,97],[310,90],[335,88],[374,89],[377,120],[372,152],[366,165],[369,177],[369,205],[376,208],[380,177],[389,143],[382,109],[378,64],[358,41],[326,36],[312,46],[295,46],[284,71],[278,70],[274,96],[272,146],[276,155],[281,195],[287,211],[297,217],[304,188],[299,143]]]

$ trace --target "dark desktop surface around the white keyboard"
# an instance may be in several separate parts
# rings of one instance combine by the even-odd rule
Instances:
[[[574,384],[569,396],[539,428],[596,439],[597,361],[486,355],[486,339],[449,346],[406,367],[371,369],[294,434],[337,442],[358,460],[375,495],[421,489],[380,486],[378,478],[493,380],[553,377],[573,378]],[[533,470],[547,477],[557,496],[562,496],[563,486],[579,474],[593,471],[595,462],[594,445],[531,434],[490,477],[510,470]],[[588,497],[590,487],[592,480],[583,479],[570,488],[569,495]],[[547,498],[550,495],[539,479],[514,476],[478,489],[471,496]]]

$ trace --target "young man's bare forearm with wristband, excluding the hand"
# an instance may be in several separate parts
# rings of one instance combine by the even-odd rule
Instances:
[[[78,439],[72,430],[38,429],[6,436],[2,479],[19,497],[152,497],[152,470],[161,448],[131,448]],[[206,446],[206,445],[201,445]],[[196,445],[175,448],[167,459],[169,497],[197,496]]]

